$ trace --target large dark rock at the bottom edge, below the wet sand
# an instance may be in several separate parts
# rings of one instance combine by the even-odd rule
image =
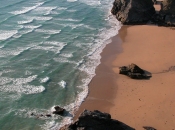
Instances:
[[[62,127],[60,130],[135,130],[130,126],[111,119],[111,115],[98,110],[84,112],[79,119],[70,125]]]

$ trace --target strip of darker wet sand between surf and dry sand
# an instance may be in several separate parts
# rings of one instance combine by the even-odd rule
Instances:
[[[119,31],[123,30],[121,28]],[[123,37],[125,34],[122,34]],[[80,105],[78,111],[75,113],[73,120],[75,121],[84,109],[100,110],[109,113],[110,108],[114,105],[115,99],[116,75],[112,70],[112,62],[116,56],[122,52],[121,38],[119,33],[111,38],[111,42],[101,52],[100,64],[97,66],[96,75],[89,83],[89,93],[84,102]]]

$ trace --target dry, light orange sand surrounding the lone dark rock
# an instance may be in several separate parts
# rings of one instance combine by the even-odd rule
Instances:
[[[121,32],[123,53],[113,62],[118,75],[112,118],[136,130],[152,126],[175,130],[175,30],[151,25],[128,26]],[[152,73],[150,80],[118,74],[118,66],[135,63]]]

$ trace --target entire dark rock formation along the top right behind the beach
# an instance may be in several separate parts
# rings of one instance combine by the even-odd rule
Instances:
[[[153,7],[156,0],[115,0],[111,13],[123,24],[146,24],[175,26],[175,0],[163,0],[157,14]]]

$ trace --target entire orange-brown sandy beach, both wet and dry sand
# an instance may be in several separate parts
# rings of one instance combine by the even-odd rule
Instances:
[[[101,56],[84,109],[108,112],[136,130],[175,129],[175,30],[155,25],[123,26]],[[135,63],[149,80],[120,75],[118,67]]]

